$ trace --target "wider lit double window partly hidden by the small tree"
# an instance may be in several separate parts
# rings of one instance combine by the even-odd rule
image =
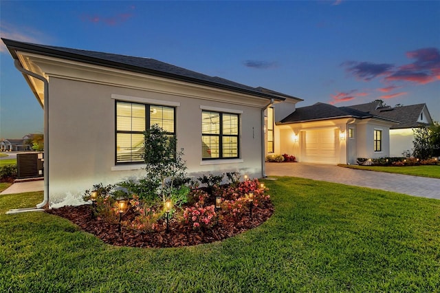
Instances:
[[[144,162],[144,131],[153,124],[175,135],[175,109],[116,101],[116,164]]]

